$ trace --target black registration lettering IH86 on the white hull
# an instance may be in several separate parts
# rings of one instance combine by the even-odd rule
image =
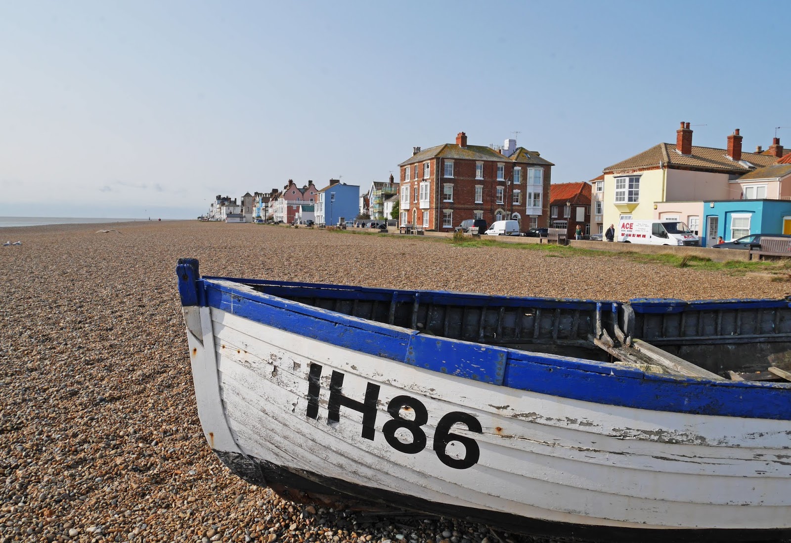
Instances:
[[[308,375],[308,409],[306,415],[312,419],[319,418],[319,392],[321,377],[321,364],[310,364],[310,373]],[[365,388],[365,398],[362,402],[358,402],[352,398],[343,395],[343,378],[345,374],[340,371],[332,371],[330,379],[330,400],[327,402],[327,423],[340,421],[340,408],[353,409],[362,413],[362,432],[361,436],[365,439],[373,441],[376,434],[377,422],[377,400],[379,399],[379,385],[368,383]],[[405,419],[401,417],[401,409],[408,408],[414,413],[414,419]],[[426,410],[426,405],[411,396],[401,395],[392,398],[388,403],[388,413],[390,413],[390,420],[382,426],[382,433],[384,439],[387,440],[390,447],[396,451],[406,454],[417,454],[426,448],[426,432],[423,431],[422,426],[429,421],[429,412]],[[482,433],[481,423],[478,419],[469,413],[462,413],[461,411],[452,411],[445,414],[437,423],[437,431],[434,433],[434,452],[437,458],[445,464],[456,469],[467,469],[475,466],[480,458],[481,451],[475,439],[467,436],[460,436],[451,432],[453,424],[460,423],[467,426],[470,432]],[[410,443],[403,443],[400,439],[395,437],[395,432],[403,428],[411,433],[412,440]],[[448,443],[457,441],[464,445],[464,458],[452,458],[447,452]]]

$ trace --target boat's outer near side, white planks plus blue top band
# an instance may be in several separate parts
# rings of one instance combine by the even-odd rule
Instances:
[[[791,534],[791,423],[766,416],[789,390],[423,334],[395,361],[399,327],[198,283],[182,300],[202,427],[253,484],[529,534]]]

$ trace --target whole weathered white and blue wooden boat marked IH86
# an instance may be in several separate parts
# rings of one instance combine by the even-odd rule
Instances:
[[[604,541],[791,536],[791,304],[201,277],[198,412],[290,500]]]

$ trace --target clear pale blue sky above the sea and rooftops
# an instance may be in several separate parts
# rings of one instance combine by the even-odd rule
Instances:
[[[778,2],[0,3],[0,215],[191,218],[367,189],[413,146],[517,144],[584,181],[661,141],[791,146]],[[706,126],[694,126],[706,125]]]

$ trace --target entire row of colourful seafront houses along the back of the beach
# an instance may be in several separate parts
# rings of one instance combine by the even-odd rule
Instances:
[[[452,232],[465,219],[513,219],[522,232],[566,228],[569,237],[577,226],[584,235],[601,234],[621,220],[662,219],[687,223],[704,246],[717,236],[791,233],[791,154],[779,138],[765,151],[744,153],[735,130],[725,149],[698,147],[689,123],[681,123],[676,145],[654,145],[577,183],[551,183],[554,164],[516,144],[467,145],[460,132],[455,144],[415,147],[399,164],[399,181],[390,175],[365,194],[339,179],[320,189],[289,180],[282,190],[244,194],[238,205],[218,195],[210,217],[320,225],[393,217],[437,232]]]

